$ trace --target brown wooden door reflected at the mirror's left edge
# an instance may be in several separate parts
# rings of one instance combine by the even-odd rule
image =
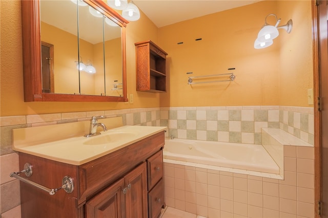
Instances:
[[[42,55],[42,92],[54,93],[53,45],[42,41],[41,42],[41,55]]]

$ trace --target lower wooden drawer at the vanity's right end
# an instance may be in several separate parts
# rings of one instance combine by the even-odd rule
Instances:
[[[158,217],[164,205],[163,180],[160,180],[148,193],[148,216]]]

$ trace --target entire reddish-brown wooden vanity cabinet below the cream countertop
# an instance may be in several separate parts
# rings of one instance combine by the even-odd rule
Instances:
[[[78,166],[19,152],[19,167],[33,166],[27,179],[49,188],[60,186],[64,176],[74,180],[72,193],[59,190],[54,195],[20,182],[22,217],[158,217],[165,206],[164,144],[160,132]]]

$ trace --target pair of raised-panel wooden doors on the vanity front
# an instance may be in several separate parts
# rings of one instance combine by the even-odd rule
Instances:
[[[86,203],[86,218],[140,217],[147,218],[146,163],[129,172],[124,178],[101,191]]]

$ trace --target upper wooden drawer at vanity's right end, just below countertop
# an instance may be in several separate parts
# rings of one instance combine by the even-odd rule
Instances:
[[[148,190],[163,177],[163,155],[162,150],[158,151],[155,155],[147,160],[147,173],[148,173]]]

